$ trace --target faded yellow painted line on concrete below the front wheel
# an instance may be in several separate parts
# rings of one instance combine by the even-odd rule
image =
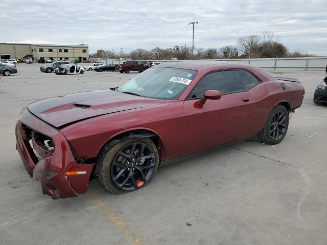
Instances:
[[[117,227],[125,235],[125,237],[130,240],[130,244],[142,245],[146,241],[140,234],[129,228],[125,221],[121,217],[117,216],[114,211],[100,199],[100,197],[95,195],[91,195],[91,197],[92,200],[95,201],[94,203],[98,205],[99,208],[107,215],[114,226]]]

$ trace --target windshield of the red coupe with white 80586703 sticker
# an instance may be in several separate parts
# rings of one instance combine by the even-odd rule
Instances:
[[[195,70],[152,67],[117,90],[154,99],[176,100],[196,75]]]

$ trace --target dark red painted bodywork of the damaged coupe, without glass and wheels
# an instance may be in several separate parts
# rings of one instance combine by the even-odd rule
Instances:
[[[277,81],[261,69],[249,65],[177,62],[158,66],[193,69],[198,74],[175,101],[102,90],[29,105],[29,111],[25,111],[17,122],[17,145],[31,175],[35,168],[34,175],[37,173],[41,180],[43,193],[53,198],[66,198],[86,192],[92,165],[78,164],[69,144],[81,159],[93,159],[113,137],[142,129],[159,136],[160,160],[169,160],[256,134],[264,127],[275,105],[287,102],[290,109],[295,109],[303,99],[304,90],[300,83]],[[207,100],[203,105],[198,103],[200,99],[187,99],[208,72],[226,69],[246,69],[261,83],[248,91],[223,94],[219,100]],[[285,90],[281,87],[282,82],[286,85]],[[22,124],[53,139],[55,150],[51,157],[36,162],[31,153],[33,150],[20,134]],[[87,175],[65,178],[65,171],[83,170],[87,171]],[[58,174],[46,180],[45,171]],[[53,186],[58,195],[51,189]]]

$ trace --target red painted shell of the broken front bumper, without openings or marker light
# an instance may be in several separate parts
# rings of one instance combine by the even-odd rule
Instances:
[[[55,142],[52,156],[40,161],[35,157],[33,150],[26,140],[24,126],[49,136]],[[45,124],[39,118],[32,115],[28,110],[20,115],[16,125],[17,150],[28,173],[35,180],[40,180],[43,194],[50,195],[53,199],[76,197],[77,194],[85,193],[92,166],[90,164],[77,164],[69,148],[69,144],[62,133]],[[56,176],[47,180],[47,171],[54,171]],[[69,176],[65,178],[66,171],[86,171],[85,175]],[[57,194],[56,194],[57,192]]]

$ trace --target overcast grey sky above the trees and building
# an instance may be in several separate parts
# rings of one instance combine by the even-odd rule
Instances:
[[[236,45],[241,36],[273,32],[289,51],[327,56],[327,1],[15,1],[0,0],[0,42],[135,48]]]

